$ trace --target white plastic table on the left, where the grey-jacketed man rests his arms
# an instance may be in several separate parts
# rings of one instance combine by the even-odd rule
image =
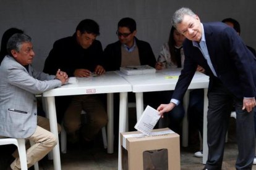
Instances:
[[[106,93],[108,99],[108,153],[113,153],[113,93],[120,93],[119,123],[121,124],[119,124],[119,132],[124,132],[127,92],[132,91],[132,86],[114,71],[109,71],[101,76],[77,79],[77,84],[66,84],[43,93],[43,97],[46,97],[46,114],[49,118],[51,132],[53,132],[54,136],[58,139],[55,96]],[[53,148],[53,163],[54,169],[61,169],[59,142],[56,147]]]

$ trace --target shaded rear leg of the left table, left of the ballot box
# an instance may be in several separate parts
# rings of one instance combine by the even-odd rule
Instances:
[[[107,94],[108,107],[108,153],[114,152],[114,111],[113,111],[113,93]]]

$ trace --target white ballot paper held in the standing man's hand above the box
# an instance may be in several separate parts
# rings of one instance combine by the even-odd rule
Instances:
[[[158,115],[158,111],[155,108],[147,106],[134,127],[149,136],[159,119],[160,115]]]

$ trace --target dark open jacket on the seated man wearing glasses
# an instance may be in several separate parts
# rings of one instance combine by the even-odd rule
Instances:
[[[150,65],[151,67],[155,68],[156,59],[150,44],[137,38],[135,38],[135,41],[139,50],[140,64]],[[122,44],[120,41],[116,41],[113,44],[106,46],[104,50],[106,70],[114,71],[119,70],[121,67],[121,45]]]

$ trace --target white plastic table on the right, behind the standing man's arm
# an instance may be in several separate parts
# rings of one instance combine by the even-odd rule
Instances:
[[[136,109],[137,109],[137,119],[143,113],[143,92],[153,92],[153,91],[173,91],[178,78],[181,74],[181,68],[177,69],[166,69],[156,71],[155,74],[148,75],[122,75],[131,85],[132,92],[135,92],[136,96]],[[171,76],[174,76],[172,78]],[[192,79],[188,89],[204,89],[204,110],[203,110],[203,163],[207,161],[208,147],[207,147],[207,108],[208,108],[208,83],[209,77],[203,73],[196,72],[194,78]],[[183,101],[184,109],[187,112],[189,105],[189,92],[184,95]],[[187,114],[185,114],[182,123],[182,145],[187,147],[188,145],[188,122]]]

